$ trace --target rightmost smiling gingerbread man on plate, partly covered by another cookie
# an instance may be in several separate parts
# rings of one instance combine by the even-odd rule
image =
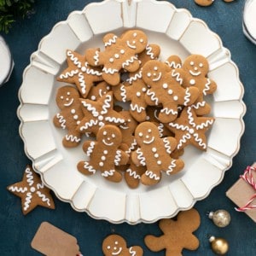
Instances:
[[[217,89],[217,84],[207,78],[209,71],[207,59],[202,55],[189,55],[183,63],[183,70],[187,78],[183,87],[196,87],[200,92],[198,99],[193,104],[195,113],[198,115],[210,113],[211,106],[204,100],[204,96],[212,94]]]

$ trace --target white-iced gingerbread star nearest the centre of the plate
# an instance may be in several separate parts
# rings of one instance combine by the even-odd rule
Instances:
[[[78,131],[93,132],[94,134],[103,125],[121,125],[125,123],[123,116],[113,110],[113,92],[108,92],[98,101],[81,99],[84,119],[81,120]]]

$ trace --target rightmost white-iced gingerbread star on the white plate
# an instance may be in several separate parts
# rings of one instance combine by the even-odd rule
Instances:
[[[194,108],[183,108],[179,118],[166,125],[175,134],[177,149],[192,144],[201,150],[207,150],[206,131],[212,126],[214,118],[199,117]]]

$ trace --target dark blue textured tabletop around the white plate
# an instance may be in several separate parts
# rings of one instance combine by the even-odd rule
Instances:
[[[110,224],[95,220],[86,213],[75,212],[69,204],[55,198],[55,210],[36,208],[26,217],[20,211],[20,199],[11,195],[6,187],[21,180],[26,164],[30,161],[24,154],[24,145],[19,135],[20,121],[16,116],[19,106],[18,90],[22,72],[30,62],[30,55],[38,49],[41,38],[47,35],[56,22],[66,20],[73,10],[84,9],[86,0],[41,0],[35,6],[36,14],[29,20],[15,23],[8,35],[3,35],[15,60],[15,69],[9,83],[0,88],[0,255],[39,255],[30,247],[30,242],[39,224],[49,221],[55,226],[76,236],[81,252],[87,256],[102,255],[102,240],[116,232],[124,236],[128,245],[140,245],[144,255],[165,255],[164,252],[150,253],[143,244],[147,234],[159,235],[158,224]],[[207,22],[213,32],[230,49],[232,60],[240,69],[241,82],[245,88],[244,102],[247,113],[244,117],[246,130],[241,137],[241,149],[233,160],[233,166],[225,173],[224,180],[212,189],[207,199],[195,204],[201,214],[201,227],[195,232],[201,241],[196,252],[183,250],[183,255],[214,255],[207,235],[222,236],[230,242],[231,256],[256,255],[256,224],[244,213],[234,210],[234,204],[225,196],[225,191],[236,182],[247,165],[256,160],[256,46],[243,36],[241,30],[242,0],[224,3],[216,0],[211,7],[201,8],[193,0],[170,1],[177,8],[186,8],[196,18]],[[207,218],[207,212],[224,208],[231,214],[231,224],[219,229]]]

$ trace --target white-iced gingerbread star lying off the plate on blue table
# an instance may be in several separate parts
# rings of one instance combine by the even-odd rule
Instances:
[[[31,166],[26,166],[22,181],[9,185],[7,189],[20,197],[21,210],[24,215],[38,206],[55,209],[55,203],[49,193],[50,190],[44,186]]]

